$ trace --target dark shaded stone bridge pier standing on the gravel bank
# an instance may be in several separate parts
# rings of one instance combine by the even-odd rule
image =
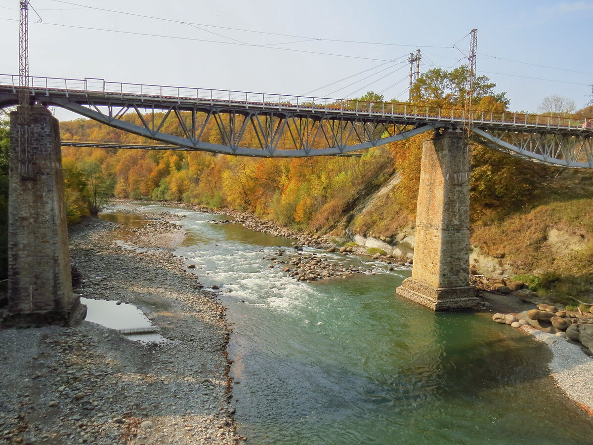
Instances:
[[[58,120],[43,106],[11,113],[8,314],[3,326],[70,325],[86,306],[72,293]]]

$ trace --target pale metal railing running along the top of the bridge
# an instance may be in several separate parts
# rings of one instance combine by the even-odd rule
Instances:
[[[332,99],[319,97],[304,97],[298,95],[266,94],[249,91],[228,91],[222,89],[167,87],[164,85],[132,84],[125,82],[108,82],[104,79],[60,79],[49,77],[30,76],[29,88],[35,94],[50,95],[50,92],[62,92],[68,96],[72,94],[86,94],[89,97],[136,97],[140,100],[146,98],[160,99],[161,101],[177,101],[178,103],[211,103],[221,105],[244,104],[248,107],[282,108],[292,111],[327,111],[356,116],[371,117],[410,117],[413,120],[426,120],[431,122],[461,123],[466,120],[464,110],[457,108],[436,108],[409,103],[395,102],[366,102],[350,99]],[[18,88],[18,75],[0,74],[0,87],[12,87],[16,93]],[[535,127],[549,129],[578,129],[589,128],[586,122],[568,117],[542,116],[536,114],[474,111],[471,116],[474,124],[489,124],[490,126],[509,127]]]

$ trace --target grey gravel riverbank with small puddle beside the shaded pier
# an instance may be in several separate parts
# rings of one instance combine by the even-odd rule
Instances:
[[[87,321],[0,331],[2,443],[241,441],[224,308],[171,253],[183,230],[154,219],[127,234],[88,219],[70,233],[71,255],[81,296],[139,306],[169,341],[141,344]]]

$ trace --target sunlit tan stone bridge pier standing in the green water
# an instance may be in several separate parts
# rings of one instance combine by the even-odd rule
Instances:
[[[412,277],[396,293],[433,310],[471,308],[469,152],[461,133],[425,140]]]

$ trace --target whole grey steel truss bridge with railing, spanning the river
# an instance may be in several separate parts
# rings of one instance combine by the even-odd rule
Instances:
[[[486,111],[466,119],[463,110],[401,103],[91,78],[31,76],[28,85],[36,103],[189,151],[265,158],[343,155],[440,128],[461,130],[469,121],[471,140],[489,148],[549,165],[593,168],[593,128],[574,119]],[[0,74],[0,107],[18,104],[18,91],[17,75]]]

